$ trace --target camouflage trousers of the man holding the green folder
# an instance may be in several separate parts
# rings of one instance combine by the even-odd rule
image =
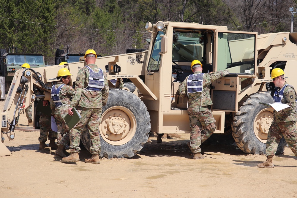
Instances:
[[[75,128],[70,130],[70,152],[79,152],[80,136],[87,135],[90,137],[91,144],[88,149],[91,154],[100,154],[101,144],[99,135],[99,124],[101,122],[101,108],[84,108],[77,107],[77,110],[81,110],[81,119],[75,126]],[[86,130],[87,128],[87,130]]]

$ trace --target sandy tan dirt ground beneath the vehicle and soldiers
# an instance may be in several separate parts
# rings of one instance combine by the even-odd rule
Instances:
[[[0,101],[3,105],[3,101]],[[27,127],[25,114],[19,126]],[[274,168],[257,168],[266,157],[247,155],[231,142],[205,144],[205,159],[193,160],[187,142],[151,137],[131,159],[65,163],[53,151],[39,151],[39,132],[27,127],[4,144],[0,197],[297,197],[297,161],[290,148],[274,157]],[[48,143],[48,142],[47,142]]]

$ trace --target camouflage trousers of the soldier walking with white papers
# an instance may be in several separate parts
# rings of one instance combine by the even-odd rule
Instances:
[[[273,156],[276,153],[277,146],[282,136],[284,136],[289,147],[295,156],[297,156],[297,132],[295,121],[271,123],[266,142],[266,156]]]

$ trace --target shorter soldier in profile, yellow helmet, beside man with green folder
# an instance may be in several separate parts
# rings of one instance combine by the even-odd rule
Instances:
[[[61,62],[60,65],[64,64]],[[74,95],[74,89],[68,85],[70,82],[70,71],[67,68],[62,68],[58,71],[57,79],[61,82],[54,85],[51,89],[50,109],[54,115],[58,127],[57,145],[58,148],[55,154],[60,157],[67,157],[69,153],[65,147],[69,145],[69,128],[63,120],[68,114],[68,109],[71,103],[71,97]]]

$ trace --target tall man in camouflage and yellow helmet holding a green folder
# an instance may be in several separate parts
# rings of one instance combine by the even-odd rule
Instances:
[[[86,66],[78,71],[75,81],[75,95],[68,110],[69,115],[73,115],[72,108],[81,111],[81,119],[75,128],[70,131],[70,151],[71,155],[64,157],[63,161],[79,161],[78,152],[81,133],[89,133],[91,139],[91,158],[86,159],[86,163],[99,164],[99,154],[101,151],[99,124],[101,123],[102,105],[108,99],[108,80],[105,71],[100,69],[96,62],[96,52],[87,50],[85,53]],[[88,130],[85,130],[87,126]]]

